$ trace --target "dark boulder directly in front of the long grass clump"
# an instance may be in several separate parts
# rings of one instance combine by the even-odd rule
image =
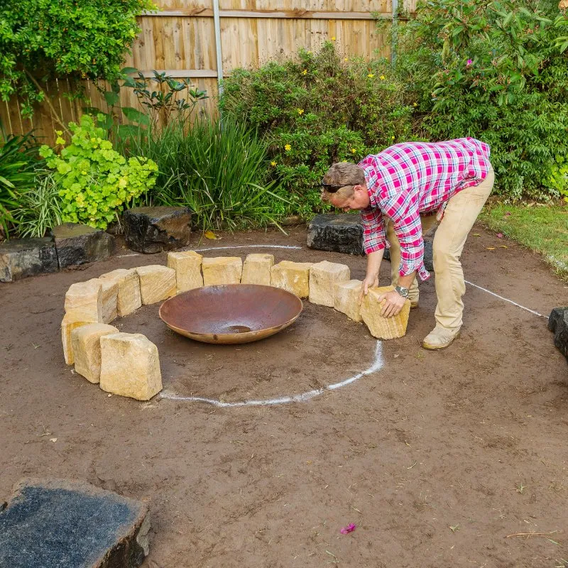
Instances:
[[[190,244],[187,207],[133,207],[124,212],[126,244],[139,253],[173,251]]]

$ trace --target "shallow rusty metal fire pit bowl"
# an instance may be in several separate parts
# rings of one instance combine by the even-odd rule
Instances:
[[[281,288],[227,284],[170,297],[160,307],[160,318],[198,342],[250,343],[293,324],[302,307],[299,297]]]

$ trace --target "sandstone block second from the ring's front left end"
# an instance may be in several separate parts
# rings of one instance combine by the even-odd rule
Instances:
[[[98,383],[101,378],[101,337],[118,332],[114,325],[107,324],[87,324],[72,329],[75,372],[91,383]]]

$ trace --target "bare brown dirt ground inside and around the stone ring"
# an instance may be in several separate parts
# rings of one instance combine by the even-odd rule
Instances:
[[[536,256],[473,232],[466,280],[544,315],[568,305],[567,286]],[[276,261],[327,259],[364,275],[364,258],[306,249],[302,227],[198,240],[194,248],[299,245],[272,251]],[[65,290],[155,263],[165,254],[0,285],[0,501],[23,476],[149,498],[145,568],[568,566],[568,366],[544,317],[468,286],[461,339],[425,351],[432,278],[408,334],[383,342],[381,370],[306,402],[109,397],[65,366]],[[381,283],[389,271],[383,263]],[[307,302],[285,332],[241,346],[178,337],[158,305],[118,326],[158,345],[167,391],[228,402],[337,383],[368,368],[376,349],[363,325]],[[354,532],[340,534],[349,523]]]

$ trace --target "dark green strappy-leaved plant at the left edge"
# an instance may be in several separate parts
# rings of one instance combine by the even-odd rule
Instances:
[[[0,143],[0,233],[9,236],[16,223],[11,211],[18,200],[33,187],[38,160],[38,146],[31,134],[7,136]]]

